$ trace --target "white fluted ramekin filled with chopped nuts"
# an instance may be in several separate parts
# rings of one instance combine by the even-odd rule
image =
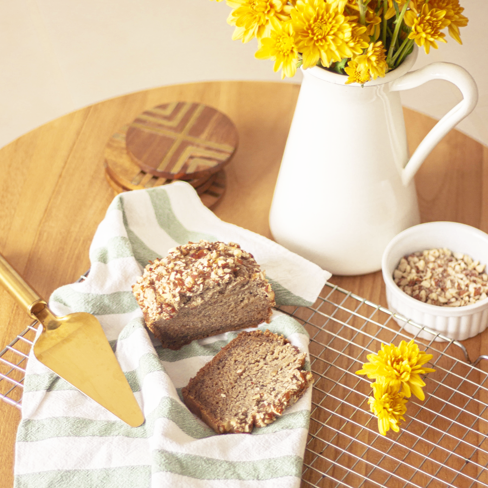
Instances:
[[[488,326],[488,234],[456,222],[404,230],[382,259],[388,308],[407,332],[427,340],[462,341]]]

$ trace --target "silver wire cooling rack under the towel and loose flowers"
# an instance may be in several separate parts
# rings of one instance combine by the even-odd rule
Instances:
[[[355,371],[381,343],[409,341],[393,320],[407,319],[335,285],[325,290],[311,307],[280,307],[310,334],[315,383],[302,487],[488,487],[487,358],[470,363],[461,343],[416,338],[436,371],[424,378],[425,401],[409,399],[400,432],[382,436],[367,404],[371,380]],[[15,407],[36,325],[0,352],[0,398]]]

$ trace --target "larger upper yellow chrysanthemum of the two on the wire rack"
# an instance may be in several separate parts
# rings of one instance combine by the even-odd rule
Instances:
[[[435,371],[424,366],[431,359],[432,354],[419,351],[413,339],[408,344],[402,341],[398,347],[382,344],[378,354],[367,355],[369,363],[365,363],[356,374],[367,374],[370,379],[383,378],[392,386],[401,387],[407,398],[413,393],[419,400],[424,400],[422,386],[425,383],[420,375]]]

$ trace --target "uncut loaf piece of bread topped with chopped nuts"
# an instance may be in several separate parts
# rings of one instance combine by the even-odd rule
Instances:
[[[200,241],[148,264],[132,291],[147,327],[163,347],[268,322],[271,285],[239,244]]]

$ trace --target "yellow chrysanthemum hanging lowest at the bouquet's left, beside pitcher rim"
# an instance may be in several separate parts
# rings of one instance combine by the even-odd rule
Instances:
[[[261,39],[261,47],[254,55],[260,60],[272,59],[274,71],[282,68],[282,79],[291,78],[297,72],[298,49],[293,38],[291,22],[272,20],[273,30],[271,36]]]

